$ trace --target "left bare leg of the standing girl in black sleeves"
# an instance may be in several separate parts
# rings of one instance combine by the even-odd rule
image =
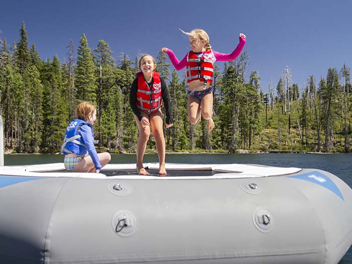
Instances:
[[[144,117],[149,119],[147,113],[144,113],[144,112],[141,112],[141,113]],[[139,136],[137,140],[137,163],[136,163],[137,172],[140,175],[149,175],[148,171],[146,171],[145,168],[143,167],[143,156],[144,156],[145,147],[147,145],[149,135],[150,135],[150,126],[143,126],[136,116],[134,116],[134,119],[136,120],[138,130],[139,130]]]

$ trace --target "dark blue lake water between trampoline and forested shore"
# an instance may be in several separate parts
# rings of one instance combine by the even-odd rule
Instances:
[[[5,155],[5,165],[63,162],[62,155],[15,154]],[[113,154],[111,163],[135,163],[134,154]],[[158,162],[156,154],[146,154],[144,162]],[[283,167],[317,168],[329,171],[352,188],[352,153],[266,153],[266,154],[166,154],[169,163],[242,163]],[[352,247],[338,264],[352,264]]]

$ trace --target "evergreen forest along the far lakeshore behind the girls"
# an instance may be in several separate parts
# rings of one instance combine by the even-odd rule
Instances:
[[[0,113],[7,153],[58,153],[77,103],[97,106],[98,151],[134,153],[138,128],[129,106],[129,91],[138,70],[138,55],[114,57],[100,40],[91,48],[85,35],[76,48],[67,41],[67,56],[40,58],[28,42],[22,22],[17,43],[0,36]],[[130,56],[135,56],[130,59]],[[173,126],[164,129],[168,152],[349,152],[352,91],[349,67],[328,68],[326,76],[307,76],[299,87],[289,67],[277,84],[262,92],[257,71],[247,72],[247,51],[214,67],[214,122],[196,125],[187,118],[185,76],[180,76],[161,51],[157,71],[171,98]],[[245,78],[246,77],[246,78]],[[247,79],[248,81],[246,81]],[[155,152],[150,137],[147,152]]]

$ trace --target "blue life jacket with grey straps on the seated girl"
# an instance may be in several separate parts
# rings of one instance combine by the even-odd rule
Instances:
[[[91,127],[92,137],[94,140],[93,126],[84,120],[74,119],[68,123],[68,126],[65,131],[65,138],[63,139],[63,144],[61,146],[61,152],[63,154],[66,155],[66,154],[74,153],[77,155],[81,155],[80,153],[82,153],[82,152],[86,153],[87,147],[83,144],[83,139],[78,134],[79,128],[83,125],[87,125],[87,126]],[[85,151],[82,151],[83,150],[82,147],[84,148]],[[83,154],[83,156],[84,156],[84,154]]]

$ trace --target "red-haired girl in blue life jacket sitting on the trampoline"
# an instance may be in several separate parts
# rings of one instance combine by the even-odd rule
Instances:
[[[99,173],[111,156],[108,152],[98,154],[94,146],[93,123],[97,119],[97,110],[94,105],[81,102],[76,107],[76,117],[66,128],[61,147],[65,168],[72,172]]]

